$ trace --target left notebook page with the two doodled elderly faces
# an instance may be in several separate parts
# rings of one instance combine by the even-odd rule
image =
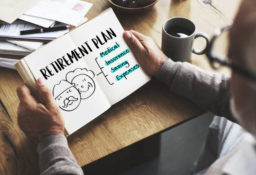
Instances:
[[[45,77],[69,134],[110,107],[95,73],[83,59],[76,60],[68,55],[75,47],[65,34],[24,58],[35,79]]]

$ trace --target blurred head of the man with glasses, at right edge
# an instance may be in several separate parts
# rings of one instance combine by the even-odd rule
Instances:
[[[256,1],[244,0],[230,31],[231,61],[256,75]],[[231,78],[231,110],[256,138],[256,82],[235,72]]]

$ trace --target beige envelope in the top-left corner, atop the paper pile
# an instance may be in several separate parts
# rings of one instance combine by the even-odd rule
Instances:
[[[0,20],[12,23],[40,0],[0,0]]]

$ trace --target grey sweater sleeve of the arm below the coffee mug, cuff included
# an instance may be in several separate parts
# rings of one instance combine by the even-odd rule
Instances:
[[[189,63],[166,60],[157,76],[172,92],[200,108],[236,122],[230,112],[230,76],[207,72]]]

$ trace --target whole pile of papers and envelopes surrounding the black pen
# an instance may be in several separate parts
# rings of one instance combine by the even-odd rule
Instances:
[[[20,35],[20,31],[79,26],[87,20],[84,15],[92,5],[81,0],[4,0],[0,5],[0,54],[29,55],[44,43],[69,32],[69,29],[26,35]],[[6,60],[0,61],[4,61],[4,65],[12,64],[12,61],[8,64]]]

